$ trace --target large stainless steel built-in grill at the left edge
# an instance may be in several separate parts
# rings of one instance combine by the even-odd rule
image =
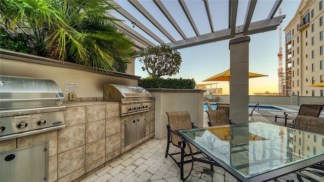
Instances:
[[[0,75],[0,141],[65,127],[63,100],[53,80]]]

